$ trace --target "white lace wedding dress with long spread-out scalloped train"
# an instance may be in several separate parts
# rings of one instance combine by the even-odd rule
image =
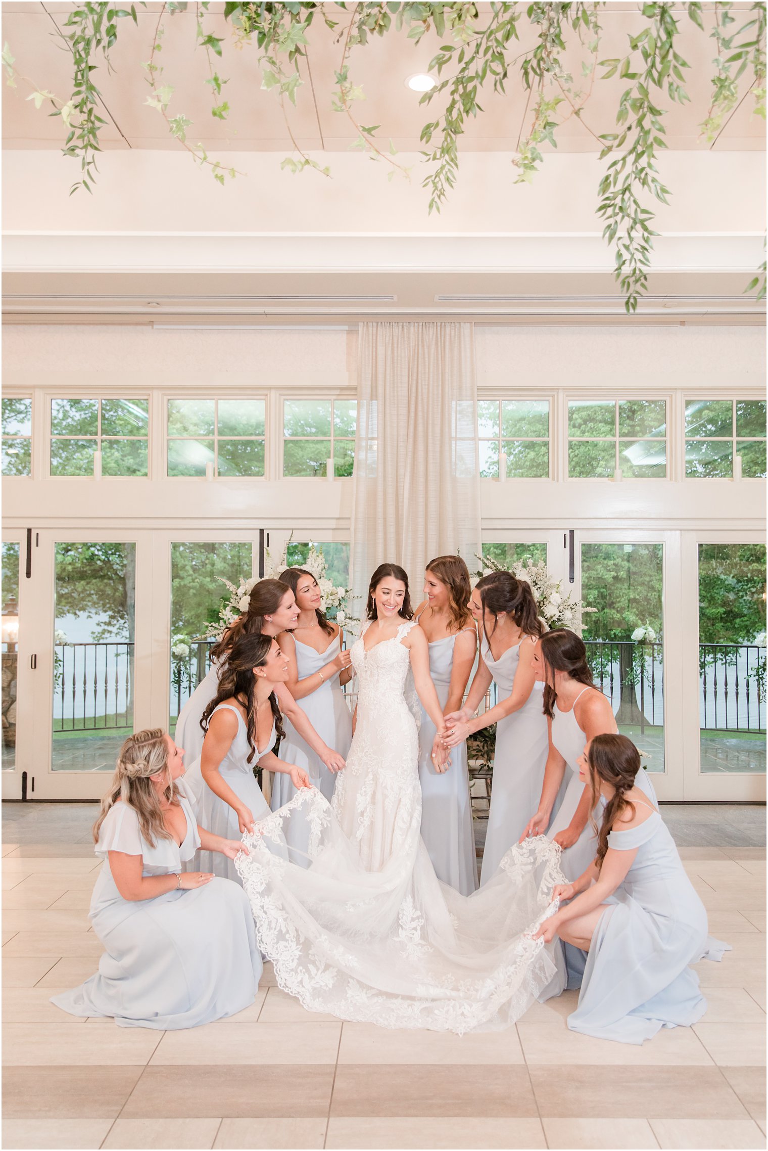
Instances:
[[[561,978],[530,938],[563,883],[544,836],[515,845],[477,892],[441,884],[420,836],[418,704],[402,638],[352,648],[358,723],[330,805],[307,788],[244,836],[237,869],[278,985],[310,1011],[458,1034],[514,1023]],[[292,861],[308,820],[309,867]],[[550,988],[552,993],[552,988]]]

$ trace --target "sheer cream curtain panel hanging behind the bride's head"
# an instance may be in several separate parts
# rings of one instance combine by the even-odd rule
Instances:
[[[476,401],[473,325],[361,323],[352,513],[359,595],[384,562],[406,569],[416,603],[433,556],[458,551],[473,569]]]

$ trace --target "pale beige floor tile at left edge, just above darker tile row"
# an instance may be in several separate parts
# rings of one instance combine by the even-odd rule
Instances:
[[[149,1061],[162,1031],[147,1027],[90,1028],[71,1023],[5,1023],[5,1067],[101,1067]],[[177,1032],[183,1034],[183,1032]]]

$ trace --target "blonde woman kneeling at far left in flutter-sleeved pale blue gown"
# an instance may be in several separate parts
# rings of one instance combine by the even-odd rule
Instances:
[[[93,825],[103,864],[89,918],[106,954],[97,975],[52,998],[70,1015],[172,1031],[235,1015],[254,1000],[261,956],[245,892],[182,871],[201,845],[229,860],[244,849],[195,823],[183,755],[159,727],[121,748]]]

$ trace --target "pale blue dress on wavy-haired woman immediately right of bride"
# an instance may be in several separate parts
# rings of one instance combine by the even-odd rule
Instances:
[[[475,628],[462,631],[474,632]],[[455,640],[455,635],[446,635],[429,645],[429,672],[441,708],[448,700]],[[438,879],[455,887],[462,895],[471,895],[477,889],[477,856],[469,801],[467,742],[451,748],[447,771],[436,771],[432,763],[436,730],[422,707],[418,731],[421,837]]]

